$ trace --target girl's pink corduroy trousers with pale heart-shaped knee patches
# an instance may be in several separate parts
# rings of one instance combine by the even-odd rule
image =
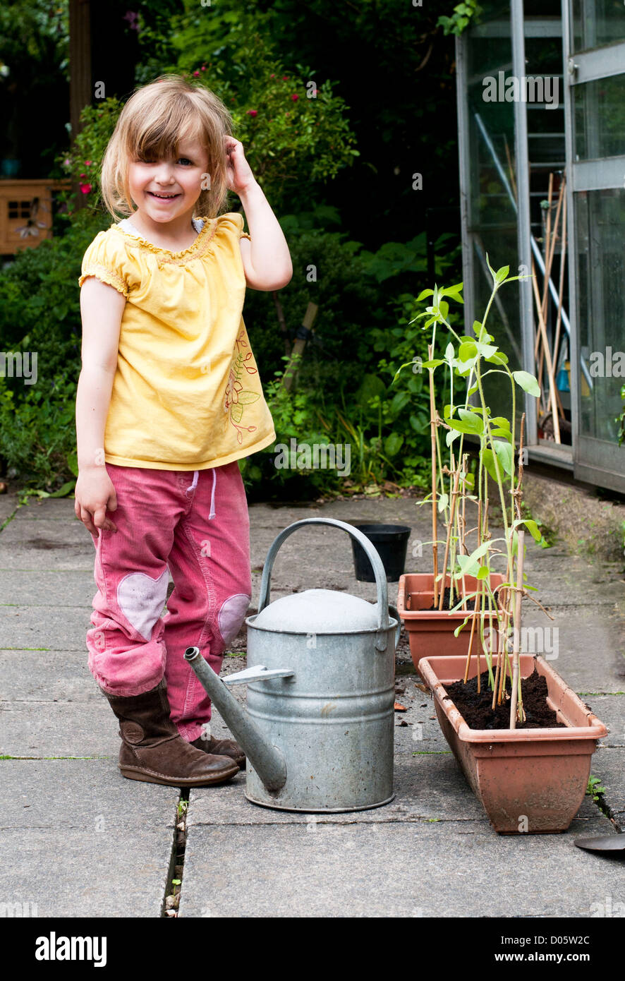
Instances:
[[[192,742],[210,720],[211,703],[184,650],[199,647],[219,674],[251,596],[238,464],[195,471],[105,466],[117,493],[107,517],[118,531],[91,534],[98,592],[86,635],[89,670],[105,692],[127,697],[165,676],[172,719]]]

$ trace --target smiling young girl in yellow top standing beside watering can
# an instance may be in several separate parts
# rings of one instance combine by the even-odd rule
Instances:
[[[127,102],[102,164],[114,218],[82,260],[76,514],[95,545],[89,669],[131,780],[196,787],[244,765],[210,737],[183,660],[219,672],[251,596],[237,460],[276,439],[241,318],[292,275],[285,236],[208,89],[163,76]],[[218,214],[228,189],[242,215]],[[174,592],[161,617],[168,588]]]

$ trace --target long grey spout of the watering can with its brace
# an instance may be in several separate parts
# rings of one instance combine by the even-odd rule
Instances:
[[[286,762],[280,749],[265,738],[258,726],[249,718],[226,685],[201,656],[199,647],[187,647],[184,660],[188,661],[197,675],[202,687],[227,722],[234,739],[244,750],[251,765],[270,793],[277,794],[286,784]],[[249,668],[231,676],[231,683],[245,683],[262,677],[288,677],[293,672],[288,668],[267,671],[263,668]],[[229,679],[230,680],[230,679]]]

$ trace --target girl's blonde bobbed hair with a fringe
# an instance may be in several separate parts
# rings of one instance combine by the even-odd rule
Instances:
[[[193,217],[215,218],[228,196],[224,136],[232,117],[214,92],[179,75],[162,75],[138,88],[117,122],[102,159],[102,199],[117,220],[132,214],[129,162],[137,156],[160,160],[178,156],[183,139],[198,139],[208,155],[210,189],[203,189]]]

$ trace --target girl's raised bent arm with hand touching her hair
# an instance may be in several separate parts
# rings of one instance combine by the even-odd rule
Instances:
[[[288,245],[278,219],[243,154],[243,145],[227,137],[229,186],[238,194],[251,241],[239,241],[245,281],[252,289],[282,289],[293,275]]]

